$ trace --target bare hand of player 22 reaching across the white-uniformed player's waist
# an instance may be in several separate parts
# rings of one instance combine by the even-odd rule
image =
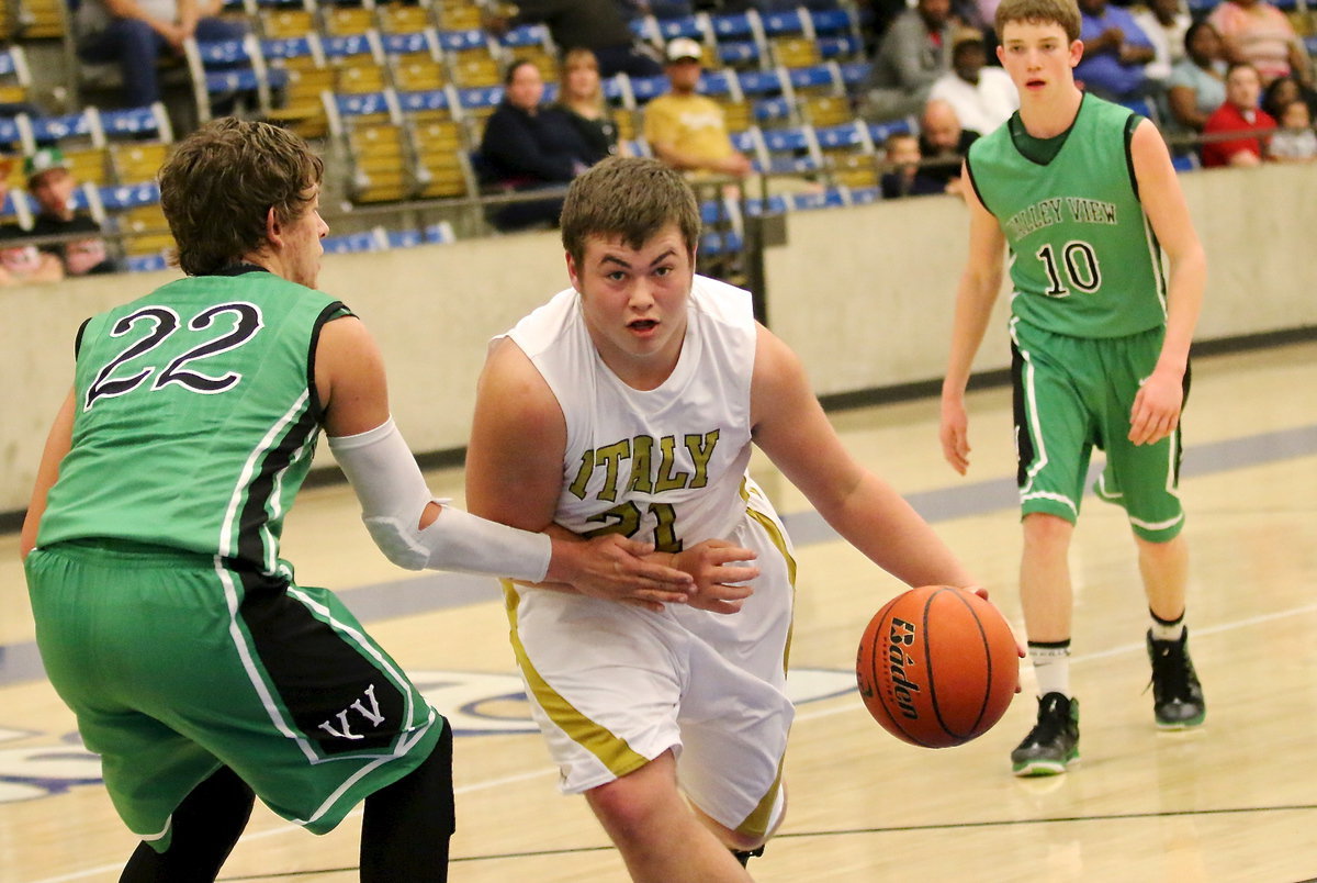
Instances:
[[[553,540],[553,572],[581,594],[651,610],[665,604],[685,604],[694,579],[682,571],[647,560],[653,546],[606,534],[585,542]]]

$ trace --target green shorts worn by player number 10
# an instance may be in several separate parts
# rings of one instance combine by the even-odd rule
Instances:
[[[1068,337],[1011,320],[1011,386],[1022,514],[1079,518],[1089,457],[1106,452],[1097,493],[1125,507],[1142,539],[1184,526],[1180,428],[1156,444],[1129,440],[1130,410],[1162,352],[1163,328],[1126,337]],[[1184,377],[1185,395],[1189,373]]]

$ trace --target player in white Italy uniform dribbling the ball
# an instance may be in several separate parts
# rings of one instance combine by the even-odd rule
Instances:
[[[747,291],[695,275],[680,173],[608,158],[562,211],[572,289],[497,339],[468,455],[470,511],[622,532],[695,579],[686,604],[506,584],[512,644],[566,793],[636,880],[747,880],[777,829],[795,561],[747,474],[751,442],[827,522],[909,585],[973,577],[842,447]]]

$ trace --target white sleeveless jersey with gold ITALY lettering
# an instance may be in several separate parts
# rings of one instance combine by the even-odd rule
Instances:
[[[605,365],[572,289],[508,336],[566,416],[554,521],[582,535],[653,542],[660,551],[726,538],[740,523],[756,341],[749,293],[694,278],[681,356],[653,390],[627,386]]]

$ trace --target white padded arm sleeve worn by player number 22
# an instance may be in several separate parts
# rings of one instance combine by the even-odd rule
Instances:
[[[435,499],[392,418],[358,435],[331,438],[329,449],[361,502],[370,538],[394,564],[531,583],[548,573],[553,555],[548,535],[498,525]],[[431,502],[444,507],[433,525],[420,530],[420,515]]]

